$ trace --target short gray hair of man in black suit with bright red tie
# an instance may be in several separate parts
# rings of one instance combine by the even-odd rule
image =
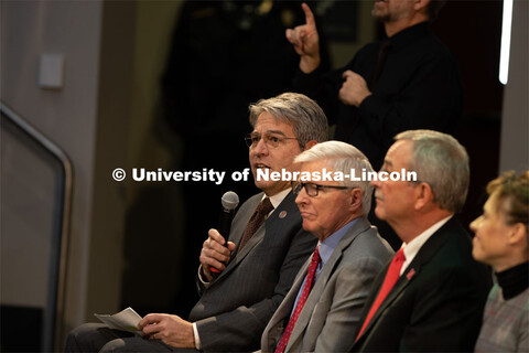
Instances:
[[[408,170],[432,188],[434,201],[450,212],[461,212],[469,183],[468,154],[452,136],[432,130],[409,130],[395,139],[411,140],[412,156]]]

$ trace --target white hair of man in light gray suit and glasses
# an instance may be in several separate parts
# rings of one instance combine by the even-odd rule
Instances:
[[[355,179],[360,181],[353,181],[350,178],[344,178],[339,183],[344,186],[355,186],[361,190],[361,214],[367,216],[371,208],[373,186],[368,180],[364,180],[360,173],[373,172],[371,163],[367,157],[360,152],[356,147],[341,141],[327,141],[317,143],[313,148],[303,151],[294,159],[294,163],[305,163],[325,160],[326,164],[335,172],[342,172],[344,175],[350,175],[352,170],[355,170]]]

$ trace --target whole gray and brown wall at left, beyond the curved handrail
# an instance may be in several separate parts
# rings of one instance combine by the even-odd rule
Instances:
[[[66,330],[94,321],[94,312],[120,307],[125,215],[136,185],[115,182],[111,171],[170,161],[152,125],[180,6],[2,2],[1,99],[58,145],[74,165]],[[64,55],[62,89],[37,86],[43,53]]]

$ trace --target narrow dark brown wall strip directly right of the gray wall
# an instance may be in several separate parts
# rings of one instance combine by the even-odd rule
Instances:
[[[95,159],[90,175],[94,182],[90,250],[82,321],[94,321],[95,312],[111,313],[120,308],[125,265],[125,185],[114,181],[111,172],[128,168],[134,47],[134,36],[130,33],[136,26],[136,3],[105,1],[101,15]]]

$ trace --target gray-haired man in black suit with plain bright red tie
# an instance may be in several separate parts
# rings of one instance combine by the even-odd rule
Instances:
[[[381,170],[418,179],[373,181],[375,213],[403,245],[375,281],[353,351],[473,351],[489,275],[454,216],[466,199],[468,156],[442,132],[411,130],[396,140]]]

